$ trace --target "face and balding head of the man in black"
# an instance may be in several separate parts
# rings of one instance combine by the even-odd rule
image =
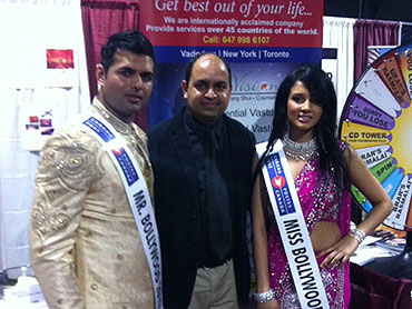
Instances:
[[[189,82],[182,81],[180,87],[189,114],[206,126],[225,112],[232,91],[226,66],[214,54],[197,59]]]

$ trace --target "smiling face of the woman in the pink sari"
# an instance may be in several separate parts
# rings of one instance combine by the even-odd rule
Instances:
[[[301,81],[296,81],[287,99],[291,139],[301,142],[311,140],[313,128],[320,121],[322,113],[322,107],[312,101],[306,87]]]

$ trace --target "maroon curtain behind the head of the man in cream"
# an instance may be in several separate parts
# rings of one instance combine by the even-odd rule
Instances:
[[[91,98],[97,93],[95,69],[100,62],[100,48],[110,34],[138,29],[137,0],[81,0],[87,67]],[[135,122],[147,127],[146,109],[137,113]]]

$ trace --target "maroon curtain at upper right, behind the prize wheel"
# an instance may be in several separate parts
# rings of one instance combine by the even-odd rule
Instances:
[[[369,46],[398,46],[400,22],[357,20],[353,27],[354,37],[354,79],[367,68]]]

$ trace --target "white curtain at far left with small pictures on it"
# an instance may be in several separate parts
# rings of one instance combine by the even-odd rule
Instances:
[[[36,150],[89,104],[80,0],[0,0],[0,269],[8,269],[29,265]],[[71,64],[52,68],[66,58],[49,51],[61,50]]]

